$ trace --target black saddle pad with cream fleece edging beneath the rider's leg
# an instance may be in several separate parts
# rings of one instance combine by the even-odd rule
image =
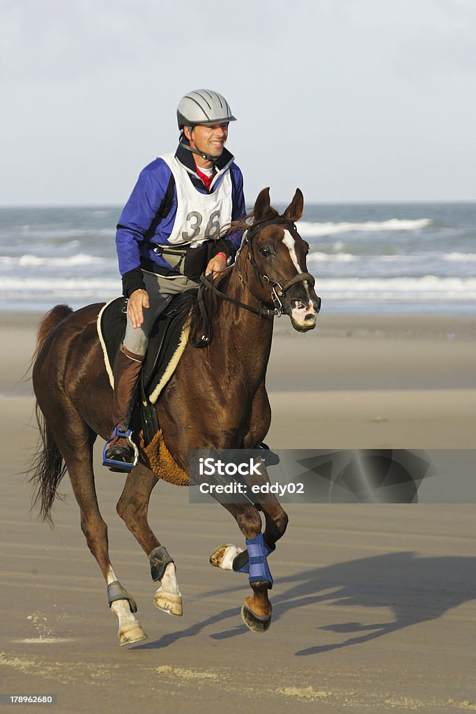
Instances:
[[[143,363],[143,383],[149,401],[155,404],[159,394],[173,375],[188,340],[188,311],[184,305],[191,298],[186,291],[173,298],[166,311],[153,326]],[[119,345],[126,333],[126,298],[115,298],[101,308],[97,330],[103,349],[104,364],[111,387],[114,388],[113,366]]]

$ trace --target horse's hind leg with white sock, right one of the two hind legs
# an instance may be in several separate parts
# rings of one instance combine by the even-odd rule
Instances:
[[[161,583],[156,590],[156,606],[170,615],[182,615],[182,593],[177,584],[175,563],[151,531],[147,520],[148,502],[157,481],[155,474],[139,463],[128,474],[117,512],[148,555],[152,580]]]

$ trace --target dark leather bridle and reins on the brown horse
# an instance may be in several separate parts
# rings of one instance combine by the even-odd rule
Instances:
[[[245,283],[243,273],[241,271],[241,265],[238,267],[238,278],[240,282],[243,283],[246,288],[248,288],[248,291],[251,293],[251,295],[253,295],[253,298],[256,298],[256,300],[258,300],[257,308],[253,305],[248,305],[248,303],[242,303],[238,300],[235,300],[234,298],[229,297],[228,295],[226,295],[226,293],[223,293],[221,290],[218,290],[218,288],[213,285],[211,278],[207,278],[203,273],[200,276],[201,286],[198,288],[198,307],[200,308],[201,315],[203,318],[204,329],[204,333],[201,338],[201,346],[206,347],[210,342],[210,331],[208,330],[208,315],[206,313],[205,304],[203,303],[204,288],[210,290],[212,293],[215,293],[215,295],[222,298],[222,300],[226,300],[229,303],[233,303],[233,305],[237,305],[238,307],[255,313],[255,315],[259,315],[260,317],[280,317],[283,314],[283,301],[281,298],[285,298],[285,294],[287,293],[289,288],[291,288],[296,283],[302,283],[304,281],[308,281],[312,287],[314,286],[314,276],[310,273],[298,273],[294,276],[294,278],[291,278],[290,281],[288,281],[288,283],[285,283],[285,285],[283,286],[278,281],[272,280],[269,276],[267,276],[265,271],[263,271],[263,268],[260,268],[258,263],[255,261],[255,256],[253,253],[253,238],[256,236],[257,233],[263,231],[263,228],[268,228],[268,226],[280,225],[287,226],[287,228],[293,228],[294,230],[296,230],[295,224],[292,221],[288,221],[286,220],[286,218],[282,218],[281,216],[278,216],[278,218],[271,218],[268,221],[254,223],[253,226],[250,226],[250,228],[248,228],[248,231],[246,231],[243,244],[240,247],[240,251],[238,251],[238,253],[240,253],[243,249],[243,246],[245,246],[246,244],[248,245],[248,253],[246,254],[246,260],[249,261],[250,266],[255,271],[255,276],[257,280],[260,281],[262,285],[263,281],[270,285],[271,295],[269,302],[261,301],[257,296],[255,296],[250,286]],[[270,303],[273,303],[272,309],[265,307],[265,305]]]

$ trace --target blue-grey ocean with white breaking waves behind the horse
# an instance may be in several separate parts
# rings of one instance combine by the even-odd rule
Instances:
[[[120,295],[120,213],[0,208],[0,309]],[[308,203],[298,230],[325,313],[476,314],[476,203]]]

